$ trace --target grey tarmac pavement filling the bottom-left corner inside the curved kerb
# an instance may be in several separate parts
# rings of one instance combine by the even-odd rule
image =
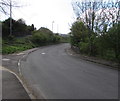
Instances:
[[[2,69],[2,100],[31,101],[28,93],[19,81],[18,77],[8,70]]]

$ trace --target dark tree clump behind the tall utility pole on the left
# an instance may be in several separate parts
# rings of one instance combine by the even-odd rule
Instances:
[[[31,35],[32,31],[36,30],[34,25],[26,25],[23,19],[14,20],[12,19],[12,36],[21,37]],[[10,35],[10,18],[2,22],[2,37],[6,38]]]

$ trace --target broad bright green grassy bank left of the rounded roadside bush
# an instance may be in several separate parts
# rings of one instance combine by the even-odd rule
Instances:
[[[2,42],[2,54],[12,54],[36,47],[30,40],[30,37],[16,38],[12,41],[4,40]]]

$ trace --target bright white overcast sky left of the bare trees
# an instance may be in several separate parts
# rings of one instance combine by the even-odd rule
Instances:
[[[13,0],[15,1],[15,0]],[[34,24],[37,29],[47,27],[53,32],[67,34],[75,20],[72,0],[16,0],[20,8],[13,8],[13,19],[23,18],[26,24]],[[4,19],[8,16],[4,16]],[[2,18],[3,19],[3,18]]]

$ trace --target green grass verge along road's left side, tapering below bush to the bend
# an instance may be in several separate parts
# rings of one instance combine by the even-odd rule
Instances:
[[[66,39],[63,39],[60,42],[42,42],[42,43],[37,42],[37,43],[35,43],[33,41],[32,36],[19,37],[19,38],[14,38],[12,40],[2,39],[2,54],[18,53],[21,51],[35,48],[35,47],[68,42],[68,40],[67,41],[65,41],[65,40]]]

